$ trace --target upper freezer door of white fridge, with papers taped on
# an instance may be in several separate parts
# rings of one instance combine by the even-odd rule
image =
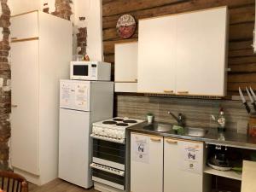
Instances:
[[[61,80],[60,108],[90,111],[90,81]]]

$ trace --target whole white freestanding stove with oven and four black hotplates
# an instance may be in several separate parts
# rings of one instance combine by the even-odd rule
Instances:
[[[130,142],[126,128],[143,120],[113,118],[93,124],[92,180],[99,191],[130,192]]]

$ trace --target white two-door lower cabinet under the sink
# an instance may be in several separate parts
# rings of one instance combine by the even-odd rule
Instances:
[[[207,192],[204,143],[131,133],[131,192]]]

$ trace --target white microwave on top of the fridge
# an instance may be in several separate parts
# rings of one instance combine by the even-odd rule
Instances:
[[[72,61],[70,64],[70,79],[110,81],[111,64],[101,61]]]

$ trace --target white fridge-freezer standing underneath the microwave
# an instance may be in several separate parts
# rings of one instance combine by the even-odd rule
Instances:
[[[92,186],[90,138],[93,122],[113,116],[113,82],[61,80],[59,177]]]

